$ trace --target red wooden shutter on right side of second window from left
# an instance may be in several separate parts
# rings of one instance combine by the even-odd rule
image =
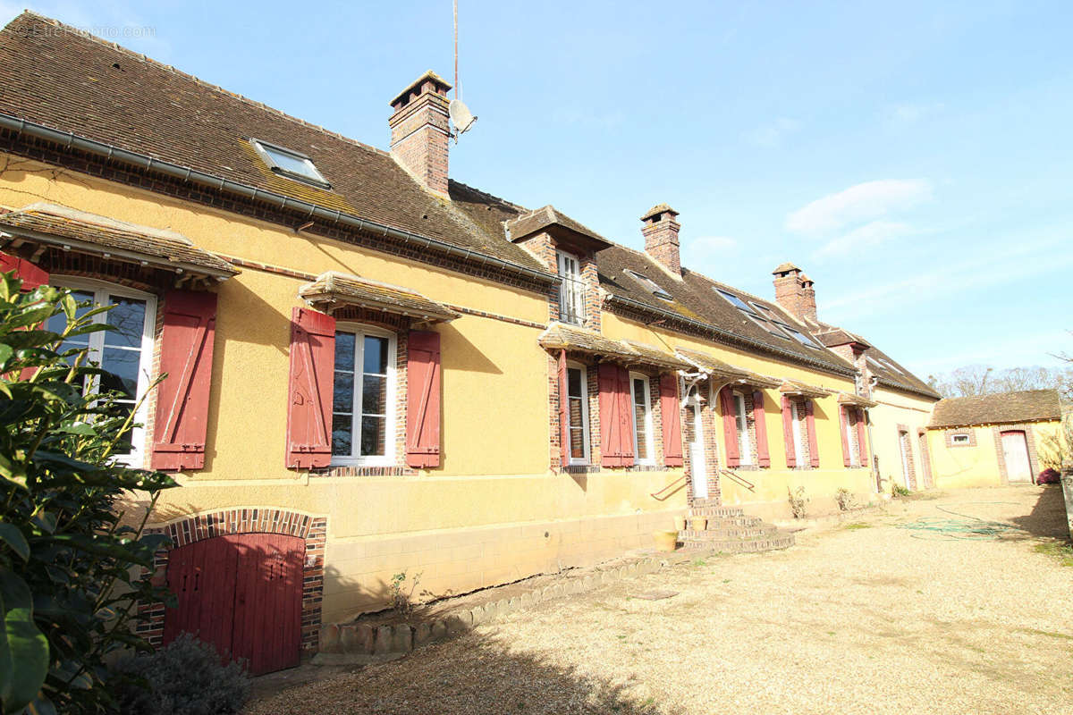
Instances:
[[[440,333],[411,330],[407,355],[406,463],[440,465]]]

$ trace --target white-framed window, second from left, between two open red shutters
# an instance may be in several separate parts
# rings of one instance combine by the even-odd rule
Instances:
[[[332,462],[386,466],[395,460],[395,334],[367,326],[336,329]]]

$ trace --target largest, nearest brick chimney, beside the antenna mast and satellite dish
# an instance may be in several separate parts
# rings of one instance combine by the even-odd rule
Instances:
[[[429,70],[392,100],[392,158],[429,191],[447,196],[447,90]]]

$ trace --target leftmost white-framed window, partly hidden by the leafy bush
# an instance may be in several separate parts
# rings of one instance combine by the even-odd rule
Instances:
[[[112,306],[112,310],[92,316],[93,323],[113,326],[114,330],[101,330],[75,336],[63,342],[60,352],[88,348],[88,360],[97,362],[112,375],[99,384],[97,378],[87,383],[86,389],[114,390],[122,394],[116,400],[116,408],[126,416],[137,406],[137,401],[149,387],[152,371],[152,331],[157,324],[157,298],[152,294],[133,288],[93,281],[89,279],[54,277],[53,285],[70,288],[79,303],[92,301],[94,306]],[[77,315],[89,308],[79,308]],[[61,313],[48,318],[46,330],[62,332],[67,317]],[[145,460],[145,427],[147,405],[134,413],[134,427],[116,445],[117,461],[141,466]]]

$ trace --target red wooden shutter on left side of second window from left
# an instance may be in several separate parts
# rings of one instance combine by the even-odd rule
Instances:
[[[332,389],[335,318],[308,308],[291,316],[291,381],[286,411],[286,466],[332,463]]]

